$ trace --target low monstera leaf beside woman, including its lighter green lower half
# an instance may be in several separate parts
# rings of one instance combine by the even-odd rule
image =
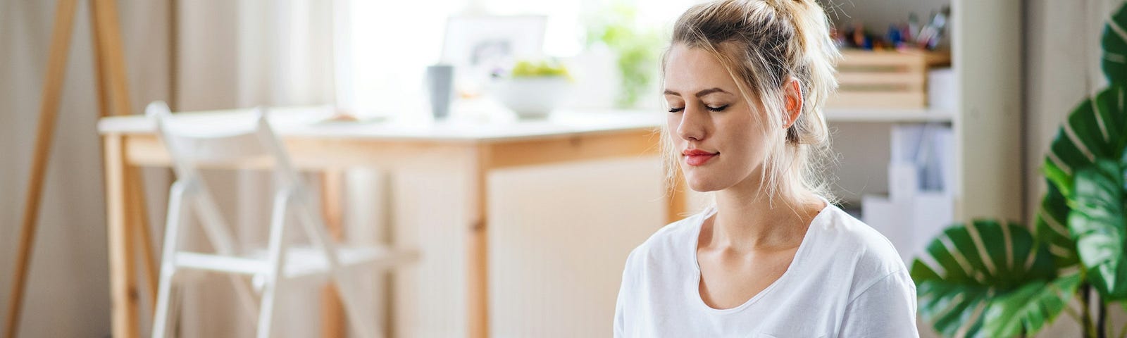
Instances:
[[[920,314],[944,337],[1008,337],[1015,326],[1044,327],[1079,284],[1054,282],[1055,275],[1053,256],[1029,230],[990,220],[948,228],[912,263]]]

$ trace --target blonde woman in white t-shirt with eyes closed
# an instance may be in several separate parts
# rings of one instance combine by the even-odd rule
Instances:
[[[823,197],[837,55],[814,0],[722,0],[677,19],[667,153],[715,205],[630,254],[615,337],[919,336],[899,255]]]

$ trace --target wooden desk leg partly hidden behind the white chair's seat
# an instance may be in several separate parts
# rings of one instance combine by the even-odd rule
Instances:
[[[343,238],[343,193],[344,172],[338,169],[328,169],[321,174],[321,213],[325,216],[325,226],[328,228],[329,235],[339,241]],[[357,320],[349,318],[349,320]],[[340,293],[330,283],[321,288],[321,337],[336,338],[345,337],[347,333],[345,324],[344,304],[340,302]]]

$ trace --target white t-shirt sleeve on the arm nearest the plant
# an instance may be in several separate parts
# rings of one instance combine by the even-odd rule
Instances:
[[[916,291],[907,270],[881,277],[845,306],[837,337],[920,337]]]

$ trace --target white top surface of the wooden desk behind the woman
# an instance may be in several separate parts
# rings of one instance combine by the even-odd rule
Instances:
[[[433,142],[496,142],[575,134],[655,130],[665,123],[660,110],[557,110],[548,119],[470,121],[387,119],[329,122],[329,106],[270,108],[269,121],[281,136],[344,137]],[[251,123],[250,109],[178,113],[177,118],[207,121],[216,127]],[[101,134],[151,134],[153,121],[144,115],[105,117]]]

